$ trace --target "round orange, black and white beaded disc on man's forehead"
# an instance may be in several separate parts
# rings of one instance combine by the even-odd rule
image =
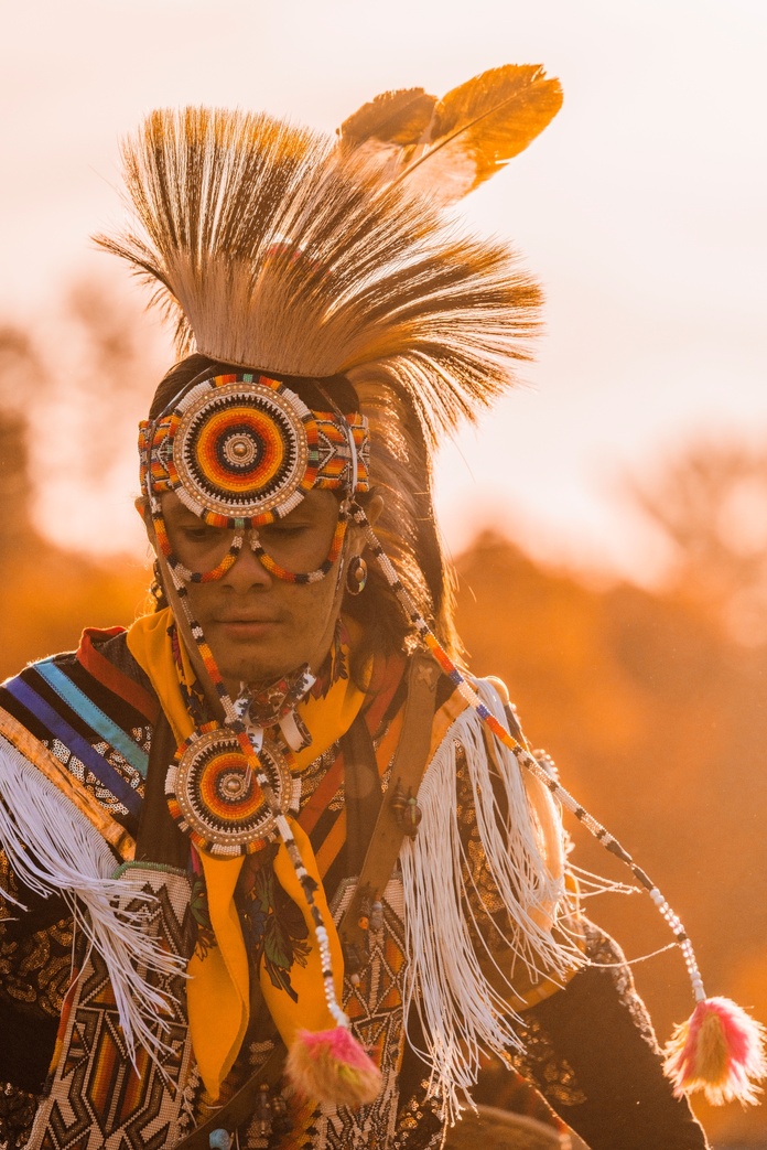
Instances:
[[[205,511],[251,519],[285,503],[308,459],[306,428],[284,393],[229,383],[198,394],[182,412],[174,463]]]

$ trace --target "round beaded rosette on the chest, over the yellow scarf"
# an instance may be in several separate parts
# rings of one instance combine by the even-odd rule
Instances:
[[[259,761],[275,795],[277,812],[263,798],[255,772],[248,772],[231,731],[217,728],[200,735],[169,772],[170,811],[182,829],[193,833],[210,854],[246,853],[254,842],[271,836],[276,814],[287,810],[292,780],[285,759],[271,742],[264,741]]]

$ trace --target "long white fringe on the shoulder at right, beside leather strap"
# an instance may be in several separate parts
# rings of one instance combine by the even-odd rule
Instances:
[[[484,682],[475,687],[506,726],[494,689]],[[471,1104],[468,1091],[476,1082],[481,1055],[522,1048],[514,1030],[520,1018],[509,1005],[515,997],[519,1000],[514,966],[522,964],[534,977],[563,980],[574,966],[583,965],[577,946],[555,941],[547,926],[552,908],[563,899],[565,884],[559,867],[552,875],[546,866],[542,828],[530,810],[520,767],[512,752],[497,743],[490,758],[485,731],[471,710],[450,727],[419,790],[419,834],[406,839],[400,852],[408,954],[405,1011],[406,1017],[413,1006],[419,1012],[428,1048],[420,1052],[432,1067],[429,1091],[439,1098],[451,1124],[462,1109],[459,1095]],[[482,960],[496,966],[508,986],[507,996],[490,986],[476,951],[478,927],[486,933],[492,920],[483,915],[475,926],[468,897],[471,862],[461,844],[455,783],[459,745],[466,754],[488,869],[509,920],[508,935],[501,936],[509,949],[506,968],[500,969],[488,943],[481,943]],[[506,800],[506,815],[493,782]],[[476,887],[471,897],[485,905]],[[494,929],[500,935],[501,928]]]

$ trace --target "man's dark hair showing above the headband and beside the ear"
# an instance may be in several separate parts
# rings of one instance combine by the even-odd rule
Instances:
[[[182,391],[195,378],[205,379],[214,375],[228,375],[243,371],[241,366],[222,363],[195,352],[176,363],[160,381],[149,407],[149,419],[154,420],[166,408],[170,407]],[[330,379],[308,379],[302,376],[290,376],[277,373],[264,373],[270,377],[282,379],[313,411],[327,411],[328,393],[336,407],[347,415],[359,412],[360,402],[354,388],[346,376],[333,376]],[[358,496],[358,503],[365,507],[375,491]],[[365,551],[368,565],[368,582],[362,595],[344,596],[343,610],[360,624],[362,642],[351,667],[353,677],[360,682],[368,657],[374,652],[390,656],[407,644],[411,624],[405,619],[397,596],[389,586],[369,549]],[[161,605],[164,605],[162,603]]]

